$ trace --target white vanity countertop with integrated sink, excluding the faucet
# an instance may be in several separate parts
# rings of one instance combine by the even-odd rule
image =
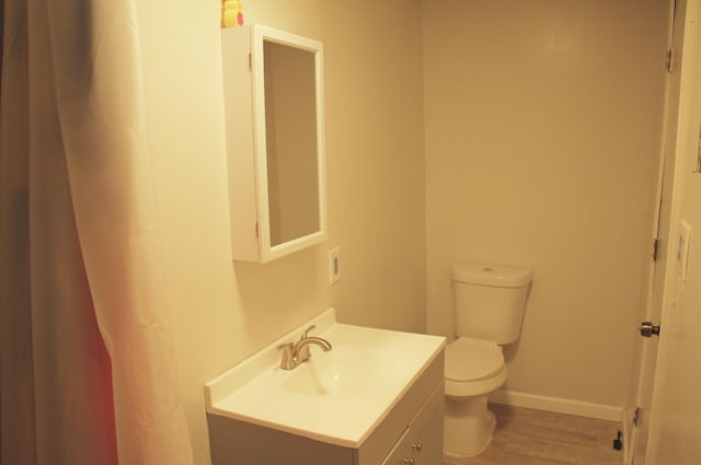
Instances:
[[[297,341],[310,325],[315,325],[310,336],[327,340],[332,349],[310,346],[309,360],[292,370],[280,369],[277,347]],[[330,309],[208,382],[207,414],[210,420],[229,418],[358,450],[430,368],[426,387],[414,388],[417,393],[410,396],[418,404],[411,416],[398,414],[391,421],[397,427],[388,427],[400,431],[379,434],[397,439],[441,386],[444,346],[445,338],[438,336],[340,324]],[[443,399],[443,388],[439,394]],[[210,435],[211,430],[210,426]]]

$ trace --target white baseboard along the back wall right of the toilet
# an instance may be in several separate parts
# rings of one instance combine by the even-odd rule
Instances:
[[[490,402],[514,407],[533,408],[556,414],[598,418],[609,421],[623,420],[623,406],[593,404],[561,397],[540,396],[518,391],[497,390],[490,395]]]

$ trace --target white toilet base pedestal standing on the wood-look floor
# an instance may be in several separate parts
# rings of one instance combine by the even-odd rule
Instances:
[[[444,454],[470,457],[484,452],[496,427],[494,414],[487,409],[486,395],[475,397],[446,396]]]

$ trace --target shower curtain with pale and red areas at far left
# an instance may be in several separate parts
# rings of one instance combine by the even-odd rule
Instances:
[[[0,0],[1,465],[180,465],[136,0]]]

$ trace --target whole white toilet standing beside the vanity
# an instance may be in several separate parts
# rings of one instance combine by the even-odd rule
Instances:
[[[496,425],[487,394],[506,382],[502,346],[518,339],[532,271],[471,263],[452,265],[457,339],[446,348],[444,453],[478,455]]]

